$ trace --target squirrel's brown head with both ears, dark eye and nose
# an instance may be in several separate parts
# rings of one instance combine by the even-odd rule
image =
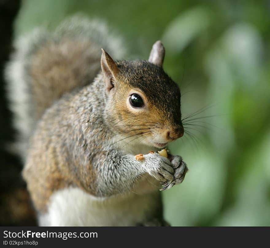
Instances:
[[[183,136],[181,94],[162,69],[164,55],[160,41],[153,45],[148,61],[115,62],[102,49],[105,119],[127,142],[163,148]]]

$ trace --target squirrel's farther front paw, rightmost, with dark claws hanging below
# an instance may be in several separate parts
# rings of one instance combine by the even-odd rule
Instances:
[[[185,175],[188,171],[187,164],[183,161],[182,157],[179,155],[169,155],[168,159],[172,163],[172,167],[174,169],[174,179],[167,180],[162,183],[162,190],[170,189],[176,184],[180,184],[183,182]]]

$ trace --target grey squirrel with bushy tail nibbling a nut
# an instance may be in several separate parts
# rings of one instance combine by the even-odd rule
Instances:
[[[164,226],[160,187],[182,183],[180,89],[149,59],[121,57],[106,25],[72,17],[15,42],[6,67],[17,148],[40,226]],[[143,153],[143,159],[135,155]],[[161,190],[162,190],[161,189]]]

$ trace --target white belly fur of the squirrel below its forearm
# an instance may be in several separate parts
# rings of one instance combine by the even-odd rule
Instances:
[[[159,191],[131,192],[98,198],[79,188],[56,191],[48,212],[39,216],[41,226],[134,226],[154,218],[160,207]]]

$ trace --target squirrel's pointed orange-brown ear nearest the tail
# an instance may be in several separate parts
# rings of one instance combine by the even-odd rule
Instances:
[[[119,69],[110,55],[104,49],[101,50],[101,69],[104,75],[104,81],[107,85],[107,89],[110,90],[114,87],[112,84],[112,79],[117,77]]]

